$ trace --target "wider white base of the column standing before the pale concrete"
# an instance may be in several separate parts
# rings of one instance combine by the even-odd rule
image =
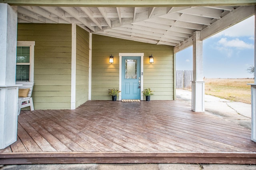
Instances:
[[[204,81],[192,82],[192,104],[191,110],[204,112]]]

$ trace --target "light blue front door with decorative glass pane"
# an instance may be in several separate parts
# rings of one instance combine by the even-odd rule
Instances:
[[[140,99],[140,57],[122,57],[122,99]]]

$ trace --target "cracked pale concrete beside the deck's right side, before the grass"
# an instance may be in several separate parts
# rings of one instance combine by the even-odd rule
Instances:
[[[191,91],[177,89],[176,98],[191,106]],[[217,98],[210,95],[204,96],[205,111],[213,113],[234,122],[238,125],[251,129],[251,105],[241,102],[232,102],[230,100]]]

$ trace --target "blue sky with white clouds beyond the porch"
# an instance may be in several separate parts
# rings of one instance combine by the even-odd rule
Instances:
[[[193,70],[192,46],[176,53],[176,70]],[[203,41],[204,77],[253,78],[254,16]]]

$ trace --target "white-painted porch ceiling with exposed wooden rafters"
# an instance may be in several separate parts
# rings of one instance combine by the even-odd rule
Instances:
[[[127,0],[126,0],[127,1]],[[255,6],[18,6],[18,23],[75,23],[91,33],[170,45],[176,52],[254,15]],[[42,5],[42,6],[41,6]],[[239,31],[239,30],[238,30]]]

